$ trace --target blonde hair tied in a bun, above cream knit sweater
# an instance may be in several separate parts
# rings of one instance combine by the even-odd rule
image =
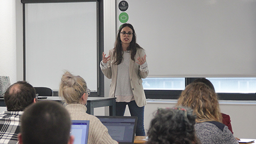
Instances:
[[[61,77],[59,97],[62,97],[67,104],[77,104],[81,103],[80,99],[84,93],[87,93],[84,79],[66,71]]]

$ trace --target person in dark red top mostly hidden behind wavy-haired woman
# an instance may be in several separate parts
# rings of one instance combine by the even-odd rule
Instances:
[[[199,83],[199,82],[202,82],[202,83],[206,84],[211,89],[213,89],[214,92],[215,92],[213,84],[208,79],[206,79],[206,78],[198,78],[193,83]],[[234,134],[234,132],[232,130],[232,126],[231,126],[230,116],[227,115],[227,114],[223,114],[223,113],[221,113],[221,116],[222,116],[222,123],[227,125],[228,129]]]

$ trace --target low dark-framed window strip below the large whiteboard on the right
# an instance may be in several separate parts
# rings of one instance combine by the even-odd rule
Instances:
[[[182,90],[197,78],[148,77],[143,79],[147,99],[178,99]],[[218,77],[209,79],[220,100],[256,100],[255,77]]]

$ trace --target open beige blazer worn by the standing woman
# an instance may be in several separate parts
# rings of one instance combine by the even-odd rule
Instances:
[[[115,89],[116,89],[116,80],[117,80],[117,65],[114,65],[115,58],[113,57],[114,49],[109,50],[110,60],[107,64],[107,69],[104,69],[102,73],[111,80],[110,90],[109,90],[109,97],[115,97]],[[144,57],[145,51],[143,49],[137,48],[137,53],[135,54],[134,59],[137,60],[138,57]],[[133,61],[130,58],[130,65],[129,65],[129,75],[130,75],[130,82],[132,87],[133,97],[137,106],[143,107],[146,105],[146,97],[145,92],[142,86],[142,79],[148,76],[148,69],[143,72],[140,70],[140,65]]]

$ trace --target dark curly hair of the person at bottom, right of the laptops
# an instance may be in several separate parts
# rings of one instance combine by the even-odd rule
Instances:
[[[195,133],[195,119],[190,108],[158,109],[150,123],[147,144],[200,143]]]

